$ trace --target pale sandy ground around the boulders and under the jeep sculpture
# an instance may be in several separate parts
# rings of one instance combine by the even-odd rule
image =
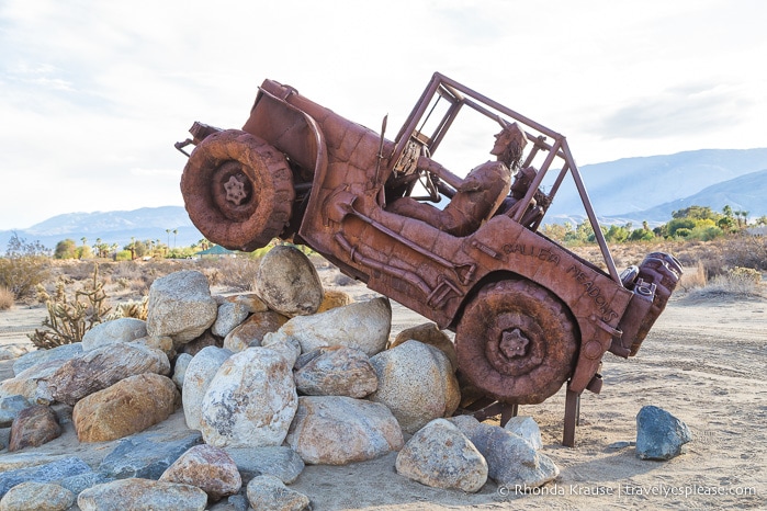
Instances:
[[[369,293],[357,288],[358,298]],[[393,333],[424,322],[397,304],[393,309]],[[40,307],[0,311],[0,349],[29,347],[24,332],[44,316]],[[561,445],[563,391],[520,407],[520,415],[540,424],[543,452],[561,469],[540,491],[516,493],[492,481],[474,495],[428,488],[395,473],[396,453],[340,467],[307,466],[292,488],[309,496],[314,510],[767,509],[766,300],[675,296],[636,357],[608,353],[604,362],[601,394],[582,399],[575,447]],[[11,364],[0,362],[0,379],[12,376]],[[687,423],[693,441],[686,454],[668,462],[636,457],[629,442],[645,405]],[[180,428],[185,428],[182,412],[155,427]],[[80,444],[71,424],[65,429],[61,438],[26,451],[74,454],[98,466],[114,447],[114,442]]]

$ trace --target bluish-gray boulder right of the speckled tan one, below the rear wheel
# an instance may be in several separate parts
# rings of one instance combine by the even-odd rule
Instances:
[[[532,489],[556,478],[559,467],[518,434],[481,423],[470,439],[485,456],[487,475],[506,488]]]

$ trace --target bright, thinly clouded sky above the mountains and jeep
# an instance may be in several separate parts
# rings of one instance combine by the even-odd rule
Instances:
[[[183,205],[173,143],[241,127],[267,78],[393,138],[439,71],[580,167],[767,147],[765,22],[762,0],[0,0],[0,230]]]

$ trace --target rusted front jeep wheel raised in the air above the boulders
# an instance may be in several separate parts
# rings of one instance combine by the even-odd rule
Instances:
[[[285,157],[239,129],[215,133],[198,145],[181,175],[181,194],[205,238],[248,252],[280,236],[295,198]]]

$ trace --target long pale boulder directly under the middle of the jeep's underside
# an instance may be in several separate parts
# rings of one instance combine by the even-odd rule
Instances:
[[[301,343],[303,353],[342,345],[372,356],[386,347],[391,330],[392,306],[388,299],[373,298],[312,316],[296,316],[277,332],[264,336],[262,343],[291,338]]]

